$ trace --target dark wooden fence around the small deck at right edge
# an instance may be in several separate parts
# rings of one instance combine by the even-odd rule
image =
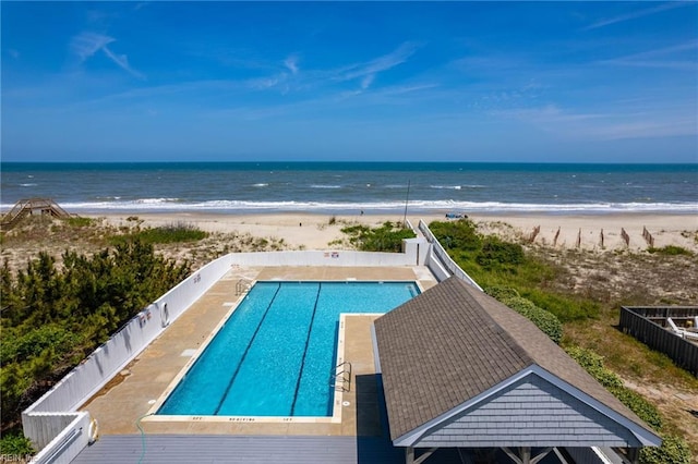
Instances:
[[[698,344],[666,329],[666,319],[676,322],[698,316],[698,306],[621,307],[621,330],[652,350],[671,357],[677,366],[698,377]],[[683,323],[682,323],[683,326]]]

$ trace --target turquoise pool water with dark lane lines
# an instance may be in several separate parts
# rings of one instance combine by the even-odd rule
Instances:
[[[412,282],[257,282],[157,414],[330,416],[341,313],[386,313]]]

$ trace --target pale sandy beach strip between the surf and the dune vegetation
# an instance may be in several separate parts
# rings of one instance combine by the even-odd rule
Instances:
[[[101,215],[112,225],[133,225],[137,218],[142,227],[190,224],[207,232],[251,234],[260,237],[282,239],[291,248],[330,248],[333,242],[345,235],[341,229],[351,224],[377,227],[386,221],[401,222],[401,215],[315,215],[315,213],[256,213],[226,215],[206,212],[164,212],[143,215]],[[414,225],[420,220],[446,219],[445,215],[409,215]],[[690,215],[471,215],[479,230],[503,239],[532,245],[585,251],[643,251],[650,246],[681,246],[698,252],[696,234],[698,218]],[[538,232],[537,232],[538,231]],[[623,231],[627,233],[626,243]],[[645,232],[647,231],[647,232]],[[532,239],[532,240],[531,240]]]

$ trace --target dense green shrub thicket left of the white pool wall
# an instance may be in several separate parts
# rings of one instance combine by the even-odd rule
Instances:
[[[0,268],[2,426],[68,369],[190,273],[133,241],[92,256],[47,253],[12,272]]]

